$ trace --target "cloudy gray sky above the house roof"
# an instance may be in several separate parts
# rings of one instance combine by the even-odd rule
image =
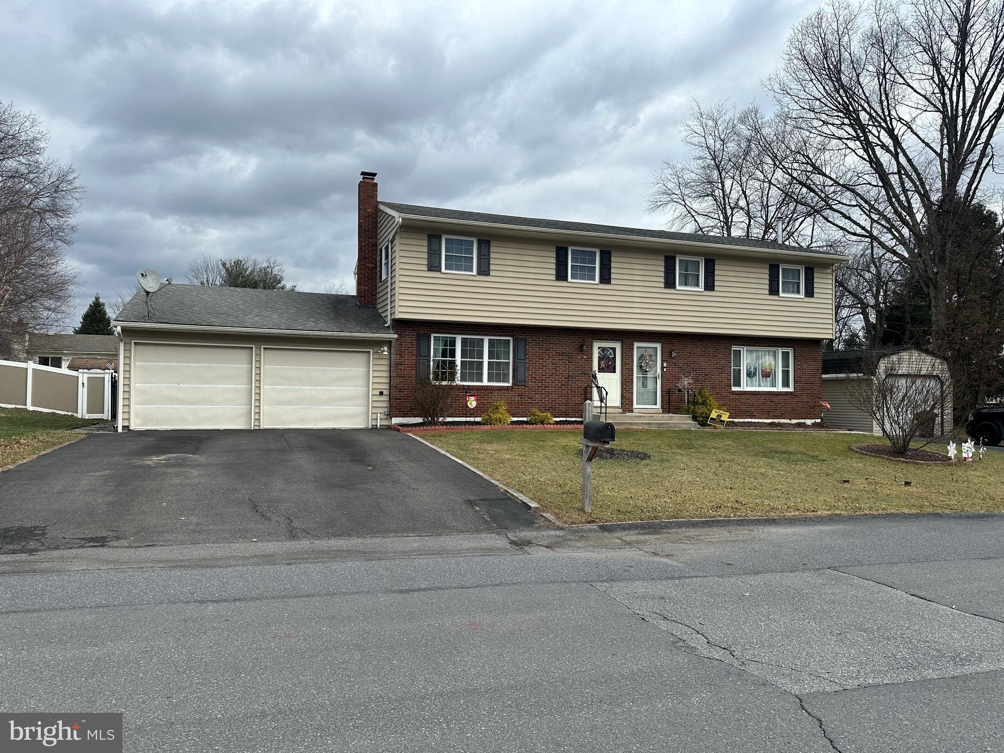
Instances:
[[[690,100],[763,100],[816,5],[6,0],[0,99],[86,186],[81,307],[207,252],[351,290],[360,170],[388,201],[659,226]]]

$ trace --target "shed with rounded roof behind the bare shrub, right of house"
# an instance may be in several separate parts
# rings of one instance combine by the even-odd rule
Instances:
[[[877,367],[877,368],[876,368]],[[866,434],[882,434],[871,416],[854,405],[855,385],[871,379],[864,372],[876,368],[881,378],[900,379],[907,388],[909,382],[923,381],[933,386],[932,393],[940,396],[935,409],[933,436],[946,433],[952,427],[952,378],[944,358],[931,355],[916,347],[887,347],[871,350],[834,350],[822,354],[822,399],[829,405],[823,421],[834,429],[846,429]],[[926,432],[925,434],[929,434]]]

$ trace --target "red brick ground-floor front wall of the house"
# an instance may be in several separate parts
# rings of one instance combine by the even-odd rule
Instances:
[[[458,335],[498,335],[526,337],[526,386],[464,388],[478,396],[478,407],[468,409],[458,401],[454,418],[480,418],[494,401],[505,401],[509,413],[524,417],[530,409],[550,411],[555,418],[582,415],[582,401],[589,389],[593,340],[621,343],[621,406],[632,410],[634,397],[635,342],[662,342],[663,411],[676,413],[683,397],[676,391],[681,375],[694,375],[698,386],[707,386],[731,419],[819,418],[822,391],[819,340],[780,337],[740,337],[715,334],[675,334],[666,332],[604,329],[525,327],[490,324],[445,324],[398,319],[394,322],[398,339],[391,357],[391,417],[413,417],[411,388],[416,381],[416,349],[420,333]],[[583,349],[584,345],[584,349]],[[732,392],[732,347],[791,347],[795,354],[795,389],[790,393]],[[677,351],[671,357],[672,350]],[[670,390],[672,388],[672,391]],[[669,400],[667,398],[669,397]],[[667,406],[669,403],[669,407]]]

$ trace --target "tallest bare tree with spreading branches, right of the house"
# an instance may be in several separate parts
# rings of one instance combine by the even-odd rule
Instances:
[[[1002,0],[831,0],[793,29],[768,86],[784,138],[757,142],[789,195],[911,267],[942,349],[948,262],[1004,115]]]

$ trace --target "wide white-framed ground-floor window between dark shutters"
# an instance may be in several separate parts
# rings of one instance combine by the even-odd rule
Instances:
[[[512,384],[512,339],[434,334],[432,378],[461,385]]]

